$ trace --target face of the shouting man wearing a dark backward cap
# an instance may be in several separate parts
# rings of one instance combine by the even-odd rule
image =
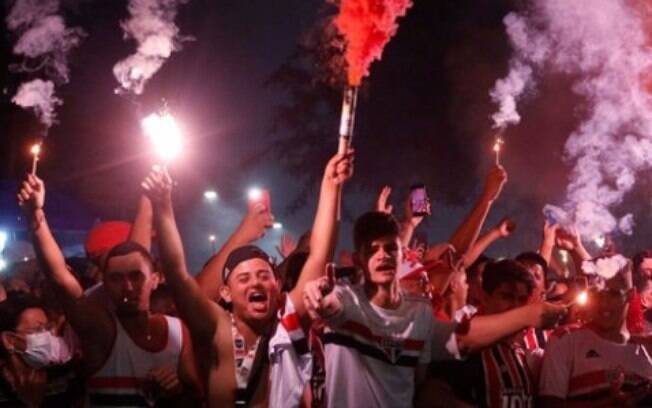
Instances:
[[[221,294],[241,319],[269,320],[276,312],[278,281],[269,263],[252,258],[233,269]]]

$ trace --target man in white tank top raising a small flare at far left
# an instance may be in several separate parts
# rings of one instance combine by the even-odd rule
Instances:
[[[149,312],[155,286],[149,252],[134,242],[109,251],[102,277],[110,305],[84,295],[68,270],[43,212],[43,182],[28,175],[18,193],[34,250],[79,336],[90,406],[150,406],[158,399],[192,403],[199,391],[190,336],[179,319]],[[181,395],[182,391],[188,394]]]

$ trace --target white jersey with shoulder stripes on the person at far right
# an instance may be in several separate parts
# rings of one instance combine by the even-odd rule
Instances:
[[[588,327],[551,336],[543,357],[539,395],[592,399],[608,391],[619,372],[623,389],[652,379],[652,360],[639,344],[618,344]]]

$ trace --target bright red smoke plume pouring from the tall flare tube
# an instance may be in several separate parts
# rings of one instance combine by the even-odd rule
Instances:
[[[410,6],[411,0],[341,0],[335,25],[346,40],[349,85],[358,86],[369,75],[369,66],[396,34],[396,19]]]

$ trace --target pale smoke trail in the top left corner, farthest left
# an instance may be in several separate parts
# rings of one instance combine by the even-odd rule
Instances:
[[[63,103],[55,96],[55,85],[69,81],[68,55],[85,35],[80,28],[66,27],[59,11],[59,0],[16,0],[6,18],[7,28],[18,37],[13,52],[23,58],[11,70],[47,78],[21,84],[12,101],[34,110],[46,128]]]

